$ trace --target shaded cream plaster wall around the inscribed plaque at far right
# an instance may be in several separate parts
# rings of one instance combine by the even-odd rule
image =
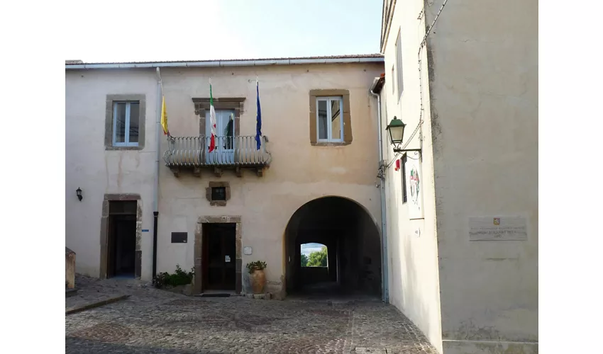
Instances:
[[[444,353],[537,353],[538,1],[449,1],[428,47]],[[514,215],[526,241],[469,241]]]

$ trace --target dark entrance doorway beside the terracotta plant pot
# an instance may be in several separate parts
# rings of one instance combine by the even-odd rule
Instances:
[[[203,224],[202,291],[235,290],[236,224]]]

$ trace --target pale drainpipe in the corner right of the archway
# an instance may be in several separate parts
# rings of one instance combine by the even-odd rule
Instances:
[[[369,93],[372,96],[377,98],[377,140],[379,140],[379,169],[383,166],[383,135],[381,128],[381,95],[379,93],[375,93],[375,87],[377,86],[377,82],[379,82],[380,78],[375,77],[375,80],[372,81],[372,85],[370,86]],[[385,171],[380,171],[380,190],[381,190],[381,246],[382,246],[382,300],[386,304],[389,304],[389,284],[388,284],[388,269],[387,269],[387,210],[385,209]]]

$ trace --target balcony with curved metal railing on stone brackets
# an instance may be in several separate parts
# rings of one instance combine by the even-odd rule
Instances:
[[[245,168],[255,169],[258,176],[262,176],[264,168],[272,161],[266,149],[267,137],[262,137],[259,150],[255,146],[255,136],[216,137],[213,152],[209,152],[210,137],[168,137],[167,141],[163,159],[165,166],[177,177],[182,169],[192,169],[194,176],[200,177],[204,167],[213,168],[218,177],[223,169],[234,169],[241,177]]]

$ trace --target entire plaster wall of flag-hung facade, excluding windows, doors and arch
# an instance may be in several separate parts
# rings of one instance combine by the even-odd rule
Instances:
[[[258,259],[268,264],[269,290],[280,290],[284,275],[284,229],[297,208],[326,195],[349,198],[380,220],[375,103],[368,88],[383,71],[382,64],[315,64],[272,67],[222,67],[161,70],[170,132],[196,136],[199,117],[192,98],[245,97],[240,134],[255,135],[255,77],[260,79],[262,132],[270,138],[270,169],[243,178],[225,171],[221,178],[203,170],[201,178],[183,171],[176,178],[160,161],[157,271],[173,272],[179,264],[194,264],[194,231],[200,216],[239,215],[243,267]],[[66,246],[77,257],[77,271],[99,274],[101,205],[105,193],[138,193],[143,202],[142,278],[150,280],[153,244],[153,169],[155,160],[156,79],[153,69],[66,71]],[[353,142],[343,147],[313,147],[309,142],[309,91],[348,89]],[[104,121],[107,94],[146,95],[145,148],[105,151]],[[162,153],[167,140],[162,135]],[[226,207],[210,206],[205,197],[209,181],[228,181],[231,199]],[[75,196],[82,188],[84,200]],[[187,232],[186,244],[172,244],[172,232]]]

